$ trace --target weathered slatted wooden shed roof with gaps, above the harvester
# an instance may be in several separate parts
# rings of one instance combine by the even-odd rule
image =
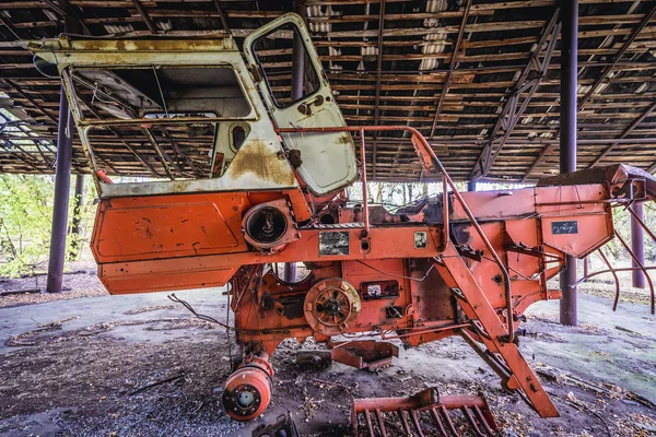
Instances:
[[[566,1],[566,0],[563,0]],[[558,0],[305,0],[305,19],[347,122],[407,125],[453,178],[535,180],[558,173]],[[22,39],[144,36],[254,28],[293,0],[3,0],[0,173],[54,172],[60,84]],[[578,166],[656,170],[656,1],[581,0]],[[291,71],[291,66],[290,66]],[[148,175],[144,144],[108,142],[109,175]],[[424,180],[409,138],[367,139],[370,178]],[[89,173],[75,142],[73,172]]]

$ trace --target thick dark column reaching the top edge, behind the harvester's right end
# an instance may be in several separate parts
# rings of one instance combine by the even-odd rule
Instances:
[[[578,0],[562,2],[561,47],[561,107],[560,107],[560,173],[576,172],[576,74],[578,72]],[[560,275],[563,297],[560,302],[560,321],[575,327],[576,316],[576,258],[566,257],[566,268]]]

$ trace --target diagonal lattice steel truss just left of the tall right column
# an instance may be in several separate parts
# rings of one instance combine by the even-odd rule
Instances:
[[[483,147],[477,164],[471,170],[472,178],[485,176],[490,172],[499,153],[501,153],[501,150],[508,140],[513,129],[515,129],[515,126],[519,122],[528,104],[540,86],[540,81],[547,74],[560,33],[559,14],[560,9],[557,9],[551,21],[542,32],[536,51],[534,51],[526,67],[522,71],[522,74],[517,79],[515,88],[511,93],[511,96],[496,119],[496,125],[490,134],[490,142]],[[503,130],[504,133],[503,135],[497,137],[501,130]]]

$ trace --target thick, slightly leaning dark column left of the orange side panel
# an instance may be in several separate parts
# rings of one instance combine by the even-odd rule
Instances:
[[[55,168],[55,201],[50,232],[50,258],[46,291],[60,293],[66,260],[66,233],[68,204],[71,189],[71,164],[73,157],[73,117],[61,87],[59,98],[59,127],[57,132],[57,167]]]

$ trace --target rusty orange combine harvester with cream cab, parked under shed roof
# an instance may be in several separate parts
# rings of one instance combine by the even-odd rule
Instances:
[[[266,40],[277,33],[304,48],[296,90],[270,71]],[[653,199],[651,175],[619,165],[512,192],[460,193],[419,131],[344,125],[294,14],[248,35],[244,58],[225,35],[61,37],[28,48],[42,69],[57,66],[96,173],[92,249],[109,293],[230,284],[243,352],[223,394],[233,418],[267,409],[269,356],[284,339],[325,342],[335,359],[358,368],[375,369],[398,354],[384,341],[344,341],[347,333],[376,333],[405,346],[459,335],[504,387],[540,416],[558,416],[517,349],[523,314],[561,296],[548,280],[563,270],[566,255],[585,257],[613,238],[613,206]],[[424,177],[441,179],[442,194],[395,213],[368,204],[365,137],[380,131],[411,138]],[[156,163],[125,140],[134,134],[155,151]],[[113,182],[95,155],[109,140],[171,180]],[[344,193],[359,173],[364,196],[353,205]],[[303,263],[311,274],[284,281],[272,268],[280,263]],[[479,434],[493,432],[481,397],[435,391],[355,401],[353,426],[358,433],[363,413],[370,434],[385,434],[385,421],[397,414],[407,433],[411,423],[421,435],[418,414],[453,428],[454,409]]]

